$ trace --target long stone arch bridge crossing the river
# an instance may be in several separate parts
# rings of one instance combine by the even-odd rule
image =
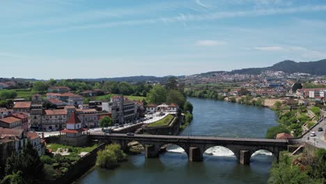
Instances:
[[[127,149],[130,141],[138,141],[145,148],[146,158],[155,158],[160,154],[160,148],[166,144],[176,144],[185,150],[190,161],[201,162],[203,153],[214,146],[223,146],[230,149],[241,164],[249,164],[251,155],[258,150],[273,153],[279,160],[279,152],[287,150],[288,145],[294,144],[284,139],[247,139],[226,137],[188,137],[169,135],[134,135],[104,134],[91,132],[91,139],[109,141],[120,144],[123,150]]]

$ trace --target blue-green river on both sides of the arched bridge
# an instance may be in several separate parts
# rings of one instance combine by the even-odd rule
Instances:
[[[265,137],[267,128],[277,125],[276,114],[263,107],[230,102],[188,98],[194,105],[194,121],[181,135],[217,137]],[[76,183],[173,184],[173,183],[267,183],[273,156],[257,151],[250,166],[237,162],[224,147],[213,147],[204,153],[203,162],[188,162],[178,146],[169,147],[160,158],[145,159],[144,154],[129,156],[127,162],[113,169],[95,167]]]

